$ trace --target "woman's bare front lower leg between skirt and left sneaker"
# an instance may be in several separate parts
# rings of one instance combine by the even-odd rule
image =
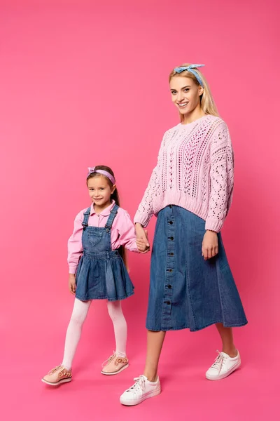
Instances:
[[[163,331],[153,332],[153,330],[148,330],[144,375],[146,375],[150,382],[155,382],[158,378],[158,361],[160,360],[160,352],[162,351],[162,344],[165,340],[165,333]]]

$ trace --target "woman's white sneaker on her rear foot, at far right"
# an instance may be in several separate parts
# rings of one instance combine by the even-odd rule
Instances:
[[[221,380],[228,377],[238,367],[241,366],[240,354],[237,351],[237,356],[230,357],[225,352],[218,352],[218,356],[214,364],[207,370],[206,378],[208,380]]]

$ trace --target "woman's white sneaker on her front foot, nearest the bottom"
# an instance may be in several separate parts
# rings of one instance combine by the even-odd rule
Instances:
[[[134,379],[134,382],[134,385],[120,396],[120,403],[123,405],[138,405],[145,399],[157,396],[161,392],[159,377],[156,382],[149,382],[146,375],[140,375]]]

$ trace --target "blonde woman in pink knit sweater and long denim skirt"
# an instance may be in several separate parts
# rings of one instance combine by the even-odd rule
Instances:
[[[207,371],[209,380],[223,379],[241,364],[232,327],[244,326],[247,320],[220,232],[232,203],[232,144],[197,67],[202,65],[182,65],[169,75],[181,123],[163,137],[158,165],[134,218],[138,244],[144,239],[148,246],[143,227],[158,215],[146,366],[120,397],[124,405],[160,394],[158,361],[167,330],[195,331],[216,324],[223,352]]]

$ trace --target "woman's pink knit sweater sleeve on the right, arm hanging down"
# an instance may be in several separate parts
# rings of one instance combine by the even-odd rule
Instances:
[[[221,123],[210,146],[210,197],[205,229],[220,232],[232,203],[234,154],[228,126]]]

